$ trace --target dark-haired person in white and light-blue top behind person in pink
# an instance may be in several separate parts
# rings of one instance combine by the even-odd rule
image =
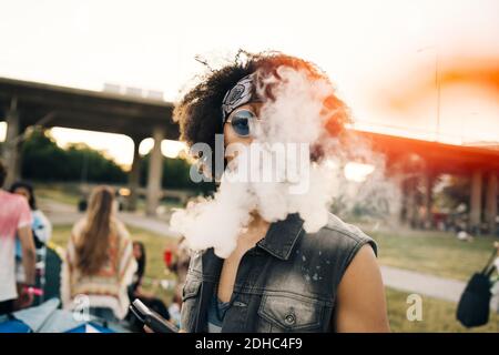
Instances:
[[[45,244],[52,235],[52,224],[43,212],[37,209],[34,190],[29,183],[16,182],[10,187],[10,192],[26,197],[30,205],[32,217],[31,231],[33,233],[33,242],[37,250],[37,265],[41,265],[40,268],[37,270],[35,285],[38,288],[43,290],[44,260],[47,252]],[[22,284],[24,282],[24,270],[22,267],[22,248],[19,237],[16,240],[16,266],[18,284]],[[37,301],[41,300],[42,298],[38,298]]]

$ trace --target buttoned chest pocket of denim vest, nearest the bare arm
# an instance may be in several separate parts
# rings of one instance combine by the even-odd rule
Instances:
[[[273,292],[263,295],[258,315],[277,332],[320,332],[325,306],[315,298]]]

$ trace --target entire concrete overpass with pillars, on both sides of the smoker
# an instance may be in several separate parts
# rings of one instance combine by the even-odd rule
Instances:
[[[139,143],[154,139],[146,186],[146,211],[154,214],[161,196],[163,139],[179,139],[179,128],[172,121],[173,104],[161,100],[62,88],[37,82],[0,78],[0,119],[8,123],[3,158],[9,168],[8,182],[20,175],[20,136],[30,125],[63,126],[90,131],[121,133],[134,142],[130,174],[134,207],[139,192],[141,158]],[[430,217],[432,184],[439,174],[471,178],[470,224],[482,222],[482,192],[486,182],[485,220],[495,225],[497,216],[499,151],[450,145],[387,134],[356,132],[371,142],[374,150],[386,154],[387,170],[399,181],[404,192],[406,216],[418,221],[418,207],[426,207]],[[417,183],[425,185],[424,202],[416,201]],[[420,222],[420,221],[419,221]],[[428,221],[427,221],[428,222]]]

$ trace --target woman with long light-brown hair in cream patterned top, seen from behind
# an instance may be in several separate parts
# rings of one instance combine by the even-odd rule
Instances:
[[[90,314],[109,322],[125,317],[128,286],[136,271],[132,241],[115,211],[114,191],[95,187],[86,215],[72,230],[61,272],[63,307],[88,306]]]

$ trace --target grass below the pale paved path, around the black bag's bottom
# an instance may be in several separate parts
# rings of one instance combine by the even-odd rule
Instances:
[[[448,332],[492,332],[499,333],[499,315],[490,315],[489,323],[485,326],[467,329],[456,321],[457,305],[451,302],[436,298],[422,298],[422,321],[409,322],[406,316],[409,304],[406,303],[408,293],[386,290],[388,303],[388,317],[391,332],[396,333],[448,333]]]

